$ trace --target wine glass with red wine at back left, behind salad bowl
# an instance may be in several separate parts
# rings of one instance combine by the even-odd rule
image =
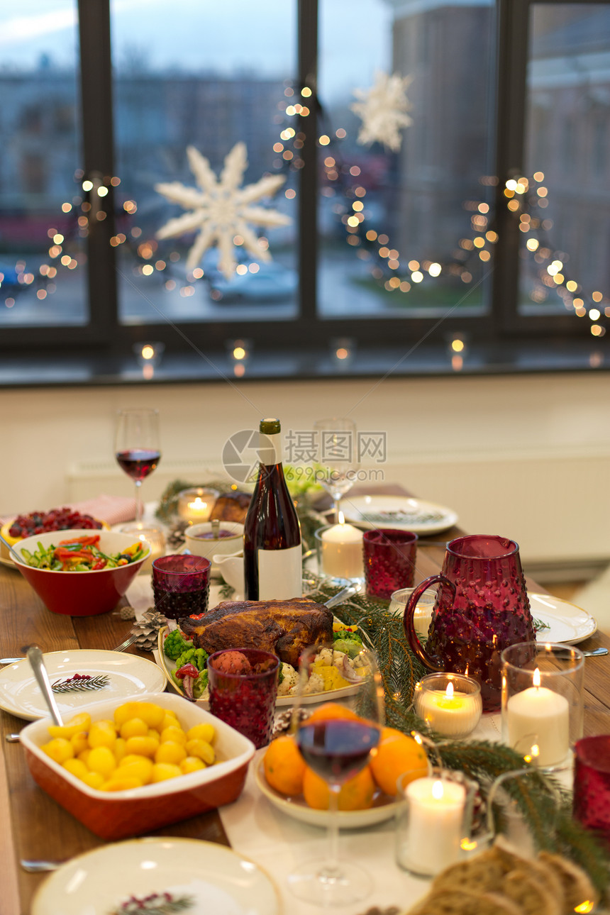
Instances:
[[[142,480],[155,470],[161,459],[159,411],[119,410],[114,430],[114,456],[119,467],[135,483],[135,526],[142,524]]]

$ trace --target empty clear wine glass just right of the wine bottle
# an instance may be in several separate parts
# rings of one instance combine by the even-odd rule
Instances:
[[[319,482],[332,497],[338,522],[339,502],[354,485],[358,468],[356,425],[351,419],[333,417],[316,420],[314,430],[317,433],[318,463],[325,469],[325,475]]]

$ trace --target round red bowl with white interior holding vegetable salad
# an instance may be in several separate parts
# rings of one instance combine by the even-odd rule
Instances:
[[[23,550],[35,553],[38,544],[48,548],[51,544],[57,546],[62,540],[83,536],[91,537],[91,534],[97,533],[100,534],[98,546],[102,553],[107,555],[123,552],[135,540],[133,533],[85,530],[49,531],[48,533],[35,533],[31,537],[20,540],[14,549],[16,554],[21,556]],[[143,544],[146,552],[137,562],[90,572],[55,572],[27,565],[25,558],[23,561],[17,562],[13,556],[13,560],[16,568],[52,613],[61,613],[70,617],[94,617],[113,610],[123,597],[140,571],[146,556],[150,553],[150,544],[146,541],[143,541]]]

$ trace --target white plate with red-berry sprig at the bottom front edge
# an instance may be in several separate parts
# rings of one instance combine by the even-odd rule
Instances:
[[[170,899],[156,911],[185,915],[279,915],[273,880],[253,861],[224,845],[198,839],[150,837],[102,845],[72,858],[38,888],[32,915],[123,915],[131,899]],[[173,906],[170,908],[169,903]],[[139,911],[139,909],[138,909]]]

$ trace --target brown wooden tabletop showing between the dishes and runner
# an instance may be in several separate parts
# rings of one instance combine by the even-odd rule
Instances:
[[[404,490],[400,491],[401,494],[404,493]],[[443,533],[443,541],[458,533],[457,529]],[[434,545],[426,545],[425,538],[420,539],[418,544],[417,580],[435,574],[443,561],[444,546],[440,544],[439,538],[430,537],[428,540],[433,541]],[[543,590],[533,582],[528,584],[531,590]],[[118,612],[90,618],[63,617],[49,613],[18,571],[0,567],[0,657],[22,655],[33,642],[40,645],[43,651],[112,649],[127,636],[130,628],[131,623],[122,620]],[[596,648],[598,645],[610,648],[610,638],[596,633],[581,647]],[[134,648],[129,651],[152,659],[152,655]],[[585,667],[585,705],[601,712],[610,712],[609,683],[610,656],[589,659]],[[27,770],[19,743],[5,742],[6,734],[18,732],[26,724],[22,719],[0,711],[0,754],[4,755],[5,763],[5,772],[0,771],[0,780],[5,776],[5,807],[8,814],[0,818],[0,856],[3,862],[0,915],[27,915],[32,896],[45,878],[45,875],[27,874],[18,867],[20,858],[70,858],[103,845],[102,839],[93,835],[37,787]],[[0,789],[2,787],[0,784]],[[195,816],[175,826],[163,827],[157,834],[229,844],[217,812]],[[9,880],[12,882],[12,897]]]

